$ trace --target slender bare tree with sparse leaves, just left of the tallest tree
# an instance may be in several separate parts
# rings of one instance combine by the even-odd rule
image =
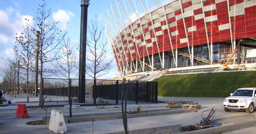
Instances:
[[[26,81],[26,101],[29,102],[29,74],[35,71],[34,53],[35,53],[35,34],[31,32],[29,26],[26,26],[24,33],[16,37],[16,44],[13,48],[16,58],[20,61],[20,68],[25,70]],[[21,77],[22,78],[22,77]]]

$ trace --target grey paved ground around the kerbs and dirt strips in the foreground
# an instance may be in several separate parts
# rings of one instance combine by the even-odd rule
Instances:
[[[18,118],[15,117],[17,104],[26,104],[26,106],[38,105],[38,97],[30,97],[30,102],[26,102],[26,96],[17,95],[16,98],[13,96],[6,96],[6,99],[12,101],[12,105],[0,107],[0,134],[54,134],[53,131],[49,130],[48,125],[32,126],[26,125],[28,121],[42,120],[43,117],[50,116],[50,109],[58,109],[63,111],[64,115],[69,115],[68,108],[49,108],[48,112],[41,108],[27,108],[29,118]],[[190,113],[179,113],[179,114],[168,114],[159,115],[152,117],[137,117],[128,118],[129,130],[140,130],[153,127],[161,126],[172,126],[181,125],[188,126],[191,124],[197,124],[201,121],[201,113],[208,109],[214,109],[216,111],[213,119],[220,119],[225,117],[237,117],[242,115],[248,115],[245,112],[231,111],[229,113],[224,112],[222,101],[224,98],[199,98],[199,97],[159,97],[158,100],[179,100],[179,101],[194,101],[198,102],[202,109]],[[5,102],[7,103],[7,102]],[[141,110],[150,109],[169,109],[166,108],[167,104],[139,104],[139,105],[128,105],[128,110],[134,110],[137,106],[141,106]],[[93,114],[93,113],[111,113],[121,112],[121,105],[105,106],[104,109],[97,109],[96,106],[84,106],[72,109],[73,115],[79,114]],[[208,114],[208,113],[207,113]],[[256,115],[256,113],[253,113]],[[122,119],[106,120],[106,121],[90,121],[90,122],[78,122],[78,123],[66,123],[67,133],[66,134],[110,134],[115,132],[122,132],[124,130]],[[248,134],[248,129],[255,130],[256,127],[247,128],[244,130],[232,131],[226,134]],[[249,131],[253,132],[253,131]],[[250,133],[252,134],[252,133]]]

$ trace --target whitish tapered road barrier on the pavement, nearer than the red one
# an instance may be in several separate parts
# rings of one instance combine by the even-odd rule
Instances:
[[[55,109],[52,110],[49,122],[49,130],[52,130],[56,134],[64,134],[67,132],[62,111]]]

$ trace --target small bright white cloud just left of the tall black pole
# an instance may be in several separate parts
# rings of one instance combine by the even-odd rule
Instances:
[[[57,12],[53,12],[53,20],[59,21],[63,28],[66,27],[67,23],[71,21],[71,17],[74,17],[75,13],[71,11],[65,11],[59,9]]]

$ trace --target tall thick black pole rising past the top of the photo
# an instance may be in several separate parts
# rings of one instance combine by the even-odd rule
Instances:
[[[78,101],[80,103],[85,102],[85,60],[86,60],[86,34],[87,34],[88,5],[89,5],[89,0],[81,0],[79,94],[78,94]]]

